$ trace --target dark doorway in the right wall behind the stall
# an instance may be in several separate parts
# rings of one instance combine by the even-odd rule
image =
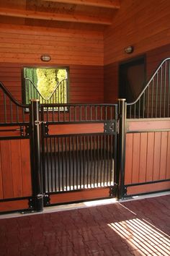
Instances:
[[[119,97],[125,98],[128,103],[138,98],[146,82],[146,61],[141,56],[120,64],[119,70]]]

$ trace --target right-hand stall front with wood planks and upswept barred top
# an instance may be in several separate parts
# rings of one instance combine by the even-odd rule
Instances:
[[[125,121],[124,197],[170,188],[170,64],[162,61]]]

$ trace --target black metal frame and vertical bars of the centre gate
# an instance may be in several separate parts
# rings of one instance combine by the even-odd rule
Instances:
[[[48,108],[50,108],[50,112],[48,111]],[[58,108],[58,113],[54,112],[53,108]],[[66,109],[67,111],[61,112],[60,108]],[[104,110],[106,112],[104,112]],[[114,113],[113,113],[113,110],[114,110]],[[113,194],[115,195],[115,191],[116,191],[115,186],[117,187],[117,184],[116,184],[117,182],[117,166],[116,166],[117,164],[117,116],[118,116],[117,104],[50,104],[50,105],[41,104],[40,112],[41,112],[41,120],[42,120],[43,191],[45,192],[45,196],[48,197],[48,200],[45,199],[46,202],[44,202],[44,204],[47,206],[50,205],[49,197],[50,195],[53,195],[53,194],[82,191],[84,189],[100,187],[99,185],[94,185],[94,184],[90,184],[90,186],[89,184],[88,185],[86,184],[85,186],[84,182],[81,183],[82,182],[81,170],[84,171],[83,168],[86,168],[86,171],[87,171],[86,175],[90,175],[90,176],[94,175],[94,169],[92,171],[93,174],[91,174],[91,167],[88,167],[89,164],[94,164],[94,163],[92,162],[90,163],[89,161],[97,161],[98,159],[97,165],[99,165],[99,153],[103,154],[101,149],[99,149],[99,145],[103,145],[104,147],[106,147],[106,144],[105,144],[106,140],[108,141],[115,140],[114,142],[115,145],[112,145],[112,143],[109,145],[109,148],[114,147],[114,149],[111,150],[112,153],[109,155],[107,150],[104,150],[104,155],[103,155],[104,159],[110,158],[112,157],[112,154],[114,152],[115,179],[112,184],[109,185],[107,183],[106,185],[103,185],[101,187],[110,187],[110,196],[113,196]],[[48,117],[49,114],[51,114],[50,118]],[[60,114],[61,114],[61,117],[60,117]],[[79,114],[79,116],[77,116],[77,114]],[[110,118],[109,118],[109,115],[110,115]],[[104,125],[104,131],[102,133],[101,132],[88,133],[88,134],[81,133],[79,135],[77,134],[48,135],[48,126],[51,124],[55,125],[57,129],[57,127],[60,124],[91,124],[93,125],[93,124],[99,124],[99,123],[102,123]],[[111,138],[112,136],[114,137],[114,139]],[[102,139],[99,140],[99,137],[101,137]],[[48,141],[50,141],[50,145],[48,145]],[[45,151],[45,146],[47,148],[46,151]],[[54,146],[54,149],[52,149],[53,146]],[[81,150],[82,147],[83,149]],[[65,150],[63,148],[65,148]],[[54,160],[52,160],[52,158],[54,157],[53,154],[55,155]],[[61,160],[59,160],[59,158]],[[68,158],[68,162],[64,158]],[[75,161],[73,161],[72,158],[73,159],[75,158]],[[62,178],[61,180],[60,178],[56,178],[57,176],[56,166],[55,166],[55,177],[51,171],[53,168],[52,166],[54,164],[53,161],[58,162],[57,164],[55,163],[56,166],[61,161],[61,167],[58,166],[58,172],[61,173],[61,178]],[[83,162],[87,161],[87,167],[82,166],[81,161]],[[104,164],[104,163],[101,163],[101,164]],[[107,164],[111,164],[111,163],[107,163]],[[66,170],[67,168],[69,168],[69,170]],[[74,171],[74,168],[75,168],[75,171]],[[94,166],[92,168],[94,168]],[[99,166],[97,166],[97,168],[99,168]],[[72,177],[73,184],[71,185],[71,182],[70,182],[69,186],[67,186],[69,183],[68,177],[67,177],[67,171],[68,173],[70,172],[69,175],[71,175],[71,173],[73,175]],[[64,189],[65,183],[63,182],[64,174],[66,174],[66,178],[65,178],[66,189]],[[52,183],[50,183],[50,185],[49,184],[47,185],[46,183],[47,183],[47,180],[49,181],[49,179]],[[53,179],[55,179],[55,182],[56,182],[56,179],[58,179],[59,188],[56,187],[56,184],[55,185],[53,184]],[[71,179],[70,176],[69,176],[69,179]],[[78,179],[79,179],[79,182],[78,182]],[[89,179],[91,183],[91,177]],[[61,188],[60,182],[63,184],[62,188]],[[74,182],[76,183],[74,184]],[[80,184],[78,185],[78,183]],[[87,178],[87,183],[88,183],[88,178]]]

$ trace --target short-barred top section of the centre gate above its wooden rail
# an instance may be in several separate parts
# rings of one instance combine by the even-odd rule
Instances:
[[[56,122],[105,121],[117,119],[117,104],[41,104],[41,120]]]

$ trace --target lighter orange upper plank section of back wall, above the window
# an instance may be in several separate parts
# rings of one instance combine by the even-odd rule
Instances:
[[[50,54],[50,64],[103,65],[101,32],[0,24],[0,37],[1,62],[42,64]]]

